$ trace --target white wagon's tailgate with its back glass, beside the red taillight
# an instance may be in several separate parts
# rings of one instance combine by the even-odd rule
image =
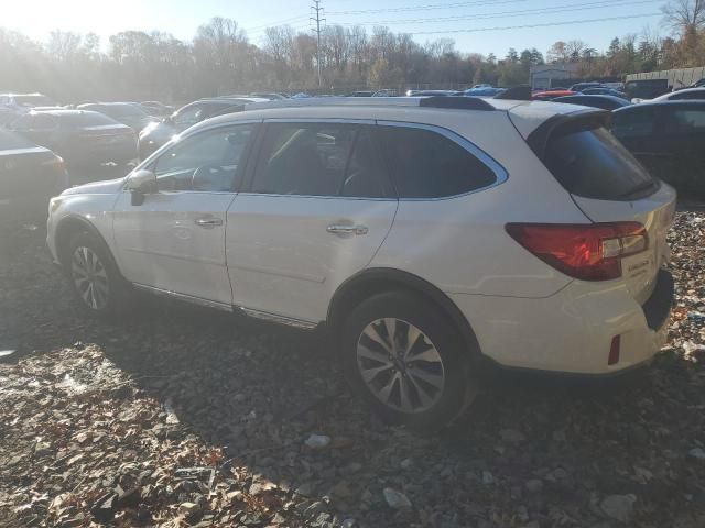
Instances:
[[[638,222],[648,249],[622,258],[622,280],[643,304],[665,264],[665,242],[675,211],[675,191],[653,178],[604,128],[568,127],[550,138],[544,163],[594,222]]]

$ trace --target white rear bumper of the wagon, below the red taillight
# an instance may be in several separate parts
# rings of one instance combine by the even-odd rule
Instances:
[[[480,350],[506,367],[577,375],[612,375],[648,363],[665,344],[674,285],[661,271],[640,306],[623,285],[574,280],[542,299],[452,294]],[[612,338],[619,361],[608,364]]]

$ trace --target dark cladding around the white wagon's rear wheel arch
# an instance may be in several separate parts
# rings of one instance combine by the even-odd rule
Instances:
[[[430,282],[400,270],[377,267],[349,277],[333,295],[327,323],[332,328],[339,328],[347,314],[365,299],[390,290],[409,292],[438,307],[457,328],[468,352],[481,355],[475,331],[456,304]]]

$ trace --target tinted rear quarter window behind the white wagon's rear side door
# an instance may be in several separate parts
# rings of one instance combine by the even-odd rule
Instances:
[[[379,129],[399,198],[463,195],[497,180],[487,164],[440,132],[395,125]]]

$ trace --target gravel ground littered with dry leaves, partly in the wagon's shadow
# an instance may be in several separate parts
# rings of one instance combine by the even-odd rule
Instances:
[[[0,230],[2,527],[705,526],[705,212],[671,234],[651,369],[497,375],[427,433],[370,416],[315,333],[147,297],[85,319],[45,233]]]

